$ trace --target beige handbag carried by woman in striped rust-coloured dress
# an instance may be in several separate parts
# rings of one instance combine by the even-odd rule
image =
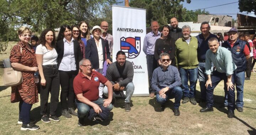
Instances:
[[[22,53],[22,48],[20,48]],[[5,86],[16,86],[20,85],[23,81],[22,72],[14,68],[4,68],[4,85]]]

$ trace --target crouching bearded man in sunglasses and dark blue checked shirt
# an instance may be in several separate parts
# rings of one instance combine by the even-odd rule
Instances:
[[[165,109],[165,102],[175,98],[174,115],[179,116],[180,101],[182,98],[181,78],[178,69],[169,65],[170,55],[161,53],[159,55],[161,66],[156,68],[152,76],[152,88],[157,92],[156,101],[161,104],[161,109]]]

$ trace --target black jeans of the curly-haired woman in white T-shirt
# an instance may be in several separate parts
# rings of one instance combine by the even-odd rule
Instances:
[[[43,66],[44,79],[46,80],[46,86],[41,85],[40,93],[40,106],[41,115],[47,114],[47,104],[49,93],[50,97],[50,115],[56,115],[56,111],[59,103],[59,89],[60,89],[60,78],[59,70],[57,65],[55,66]]]

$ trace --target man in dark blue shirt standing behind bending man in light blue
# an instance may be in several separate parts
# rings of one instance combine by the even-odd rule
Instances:
[[[201,102],[206,102],[206,81],[207,75],[205,71],[205,60],[206,60],[206,51],[209,49],[208,40],[212,37],[217,38],[216,35],[210,33],[210,25],[208,22],[201,23],[201,34],[197,35],[198,48],[197,48],[197,59],[198,59],[198,79],[201,91]],[[218,39],[218,38],[217,38]]]

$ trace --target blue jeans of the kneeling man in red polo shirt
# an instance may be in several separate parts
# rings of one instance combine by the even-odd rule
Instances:
[[[104,100],[104,98],[101,98],[101,97],[99,97],[96,101],[92,101],[92,102],[94,102],[95,104],[97,104],[98,106],[100,106],[100,107],[103,107],[103,100]],[[80,102],[78,99],[75,99],[75,103],[76,103],[76,105],[77,105],[77,108],[78,108],[78,118],[80,118],[80,119],[83,119],[83,118],[85,118],[86,117],[86,115],[89,113],[89,111],[90,111],[90,109],[92,108],[91,106],[88,106],[87,104],[85,104],[85,103],[82,103],[82,102]],[[111,111],[112,109],[113,109],[113,105],[112,104],[110,104],[108,107],[107,107],[107,109],[109,110],[109,111]]]

